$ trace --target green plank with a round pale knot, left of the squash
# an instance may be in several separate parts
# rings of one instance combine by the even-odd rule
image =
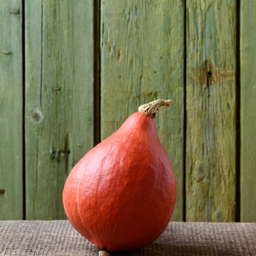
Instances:
[[[25,8],[26,218],[64,219],[67,175],[93,147],[93,1]]]

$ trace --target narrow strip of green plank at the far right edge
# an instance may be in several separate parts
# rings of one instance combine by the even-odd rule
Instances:
[[[240,221],[256,222],[256,2],[240,3]]]

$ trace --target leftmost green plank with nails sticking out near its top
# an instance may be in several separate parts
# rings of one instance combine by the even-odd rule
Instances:
[[[9,10],[19,10],[11,14]],[[23,219],[22,1],[0,0],[0,219]]]

